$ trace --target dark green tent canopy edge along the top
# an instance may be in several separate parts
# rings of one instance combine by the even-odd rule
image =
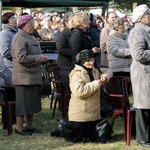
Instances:
[[[63,7],[108,6],[109,0],[1,0],[3,6],[11,7]]]

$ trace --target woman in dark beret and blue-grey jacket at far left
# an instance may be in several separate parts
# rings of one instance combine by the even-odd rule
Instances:
[[[11,42],[14,35],[17,33],[17,18],[13,12],[6,12],[2,15],[1,20],[0,59],[3,60],[4,65],[12,72]]]

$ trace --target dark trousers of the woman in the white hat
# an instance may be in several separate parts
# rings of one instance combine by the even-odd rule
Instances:
[[[150,142],[150,109],[136,109],[136,139]]]

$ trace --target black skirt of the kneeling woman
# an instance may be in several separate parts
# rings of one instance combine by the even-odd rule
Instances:
[[[67,121],[67,123],[62,126],[63,137],[67,142],[95,142],[96,123],[97,121]]]

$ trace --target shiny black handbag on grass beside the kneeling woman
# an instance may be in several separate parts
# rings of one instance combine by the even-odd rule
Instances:
[[[101,118],[96,124],[96,142],[106,143],[111,138],[111,125],[107,118]]]

